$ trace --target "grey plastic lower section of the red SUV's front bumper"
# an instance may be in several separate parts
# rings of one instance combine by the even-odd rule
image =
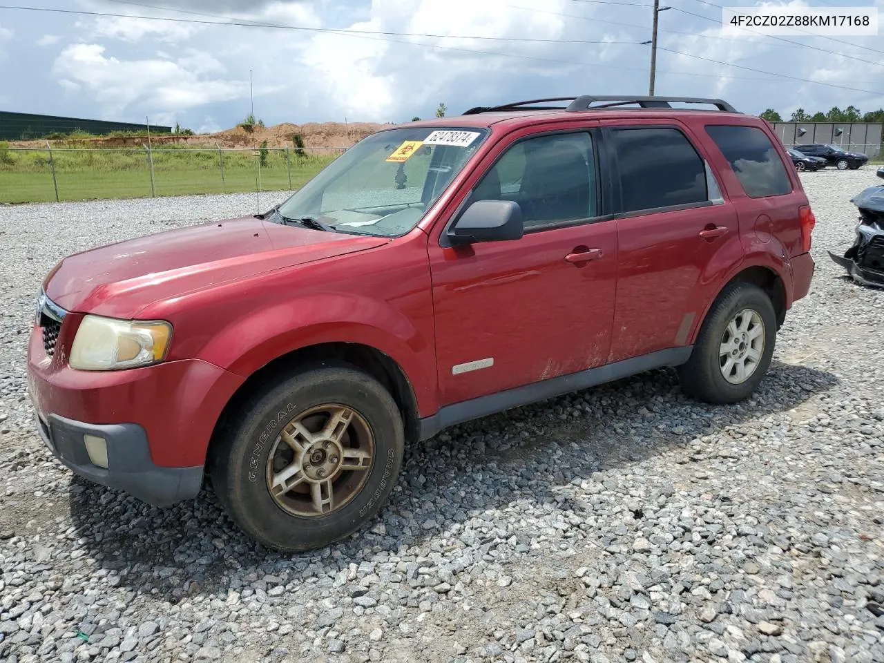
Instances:
[[[43,442],[74,474],[96,484],[128,492],[155,507],[168,507],[193,499],[202,485],[202,465],[192,468],[161,468],[150,460],[148,436],[137,423],[95,425],[59,415],[38,415]],[[107,443],[108,469],[89,458],[84,435]]]

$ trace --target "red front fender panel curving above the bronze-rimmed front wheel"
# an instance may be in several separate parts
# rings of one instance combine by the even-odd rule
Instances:
[[[356,293],[313,293],[255,310],[217,330],[200,358],[248,377],[278,357],[320,343],[358,343],[397,362],[420,415],[436,409],[436,354],[427,319]]]

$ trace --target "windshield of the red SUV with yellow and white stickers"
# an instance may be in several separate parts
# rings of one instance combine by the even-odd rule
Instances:
[[[283,202],[279,216],[398,237],[417,225],[487,135],[482,128],[434,126],[375,133]]]

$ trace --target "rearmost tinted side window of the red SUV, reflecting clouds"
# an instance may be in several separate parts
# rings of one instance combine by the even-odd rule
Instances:
[[[706,126],[750,198],[789,194],[792,183],[766,133],[756,126]]]

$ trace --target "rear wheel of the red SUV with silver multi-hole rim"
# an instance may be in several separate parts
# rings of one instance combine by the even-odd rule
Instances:
[[[755,392],[776,342],[776,313],[758,286],[737,281],[713,303],[688,362],[678,368],[682,391],[707,403],[736,403]]]

